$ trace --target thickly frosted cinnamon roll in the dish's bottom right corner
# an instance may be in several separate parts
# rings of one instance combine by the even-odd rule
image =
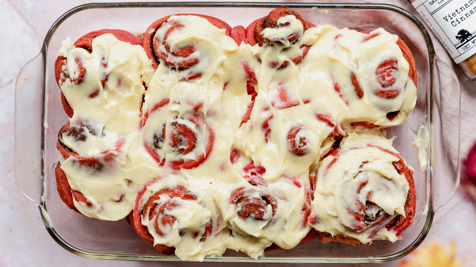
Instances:
[[[309,223],[321,241],[401,238],[416,209],[413,169],[375,134],[349,134],[322,160]]]

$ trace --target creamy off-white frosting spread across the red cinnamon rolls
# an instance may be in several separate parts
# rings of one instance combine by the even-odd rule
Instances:
[[[297,39],[291,43],[286,38],[293,34]],[[299,20],[286,16],[278,20],[278,28],[262,32],[265,40],[279,40],[273,45],[265,41],[262,47],[238,47],[207,19],[171,16],[154,35],[153,42],[162,44],[158,52],[167,57],[155,72],[141,47],[112,35],[95,38],[90,54],[65,40],[58,55],[68,59],[63,76],[69,77],[60,86],[74,109],[70,128],[84,140],[77,132],[62,134],[60,141],[80,157],[60,155],[60,163],[71,189],[88,201],[75,200],[75,206],[86,216],[116,220],[129,214],[146,184],[136,205],[180,185],[193,200],[162,194],[154,200],[158,206],[180,204],[162,215],[141,217],[155,244],[175,247],[178,257],[186,260],[219,256],[227,248],[256,258],[272,243],[293,248],[307,235],[311,179],[318,170],[312,212],[320,220],[312,227],[343,232],[344,225],[355,222],[339,215],[346,212],[341,210],[345,206],[332,203],[331,195],[352,197],[348,192],[354,192],[358,182],[340,187],[321,173],[331,157],[320,160],[334,136],[367,131],[355,122],[375,124],[377,130],[365,135],[366,142],[391,147],[375,133],[404,123],[416,101],[397,37],[383,29],[372,34],[376,36],[364,41],[367,34],[328,25],[304,31]],[[395,59],[398,70],[384,78],[395,78],[390,87],[399,93],[382,98],[374,93],[382,89],[376,70],[388,58]],[[86,75],[75,84],[81,73],[78,62]],[[353,76],[363,97],[356,94]],[[256,91],[254,102],[247,84]],[[393,120],[387,118],[387,113],[397,111]],[[341,151],[345,144],[360,145],[358,136],[346,137]],[[87,167],[81,157],[94,157],[99,163]],[[395,170],[380,165],[397,157],[376,156],[369,149],[364,156],[352,154],[339,163],[338,171],[352,168],[361,157],[376,161],[366,165],[375,175],[356,176],[368,179],[372,201],[393,216],[405,214],[408,184]],[[351,171],[355,170],[347,170]],[[381,177],[388,181],[382,183]],[[375,187],[381,184],[388,191],[379,193]],[[160,216],[175,218],[159,227],[162,233],[155,226]],[[210,222],[211,234],[198,238]],[[376,237],[395,239],[387,233]]]

